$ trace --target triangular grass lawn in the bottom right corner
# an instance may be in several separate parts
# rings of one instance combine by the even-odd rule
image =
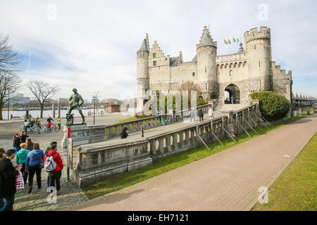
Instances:
[[[268,191],[268,204],[254,211],[317,210],[317,134]]]

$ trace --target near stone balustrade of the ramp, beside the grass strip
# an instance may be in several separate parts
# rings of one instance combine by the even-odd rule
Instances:
[[[79,146],[74,149],[77,155],[75,182],[84,187],[107,176],[151,165],[153,160],[197,148],[205,143],[234,138],[244,129],[247,131],[255,126],[254,122],[258,121],[256,115],[259,115],[258,103],[236,112],[223,111],[223,116],[213,120],[151,136],[142,141],[124,139],[118,140],[116,144],[104,141]],[[247,122],[251,127],[248,127]]]

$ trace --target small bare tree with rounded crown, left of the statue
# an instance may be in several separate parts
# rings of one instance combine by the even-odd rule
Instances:
[[[49,103],[51,98],[56,95],[58,91],[57,86],[52,86],[42,80],[33,80],[30,81],[28,87],[35,98],[37,98],[37,101],[39,101],[39,105],[41,107],[41,118],[43,118],[44,104]]]

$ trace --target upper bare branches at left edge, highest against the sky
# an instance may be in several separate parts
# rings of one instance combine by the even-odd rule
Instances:
[[[8,35],[0,34],[0,71],[16,72],[20,70],[19,65],[22,59],[18,52],[13,50],[13,45],[9,43]]]

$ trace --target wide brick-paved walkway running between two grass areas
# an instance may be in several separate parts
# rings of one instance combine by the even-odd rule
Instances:
[[[70,210],[251,210],[316,131],[315,114]]]

